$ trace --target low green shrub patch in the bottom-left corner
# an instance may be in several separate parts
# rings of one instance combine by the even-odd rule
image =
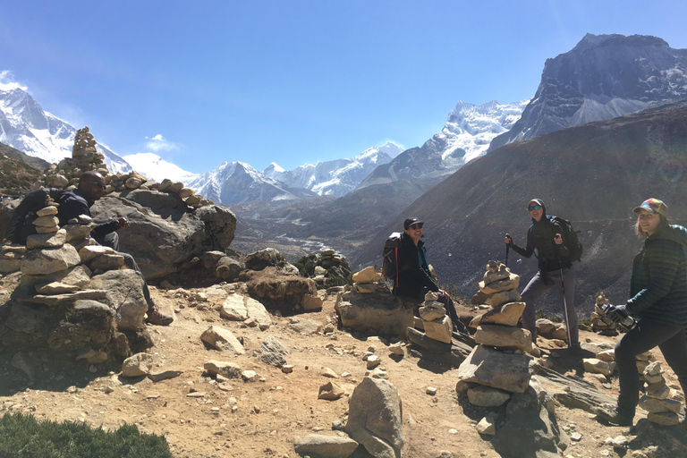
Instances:
[[[165,437],[135,425],[116,431],[83,423],[36,420],[21,413],[0,418],[0,458],[172,458]]]

